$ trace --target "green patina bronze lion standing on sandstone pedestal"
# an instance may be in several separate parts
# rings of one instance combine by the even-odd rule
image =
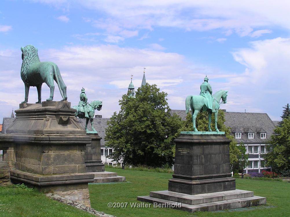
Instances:
[[[36,86],[38,93],[38,102],[41,103],[41,86],[46,83],[50,88],[50,97],[46,101],[53,100],[54,82],[59,87],[60,94],[63,100],[67,100],[66,85],[61,78],[59,68],[52,62],[40,62],[37,48],[33,45],[21,47],[22,51],[22,65],[21,65],[21,79],[25,85],[25,100],[22,103],[28,102],[28,93],[30,86]]]

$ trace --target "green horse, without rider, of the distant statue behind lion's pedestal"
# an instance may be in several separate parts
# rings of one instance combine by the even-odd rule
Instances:
[[[86,126],[85,129],[88,131],[88,122],[90,120],[91,125],[92,125],[92,130],[96,131],[94,126],[93,126],[93,121],[94,121],[94,116],[95,116],[95,110],[97,109],[100,111],[102,109],[102,101],[99,100],[94,100],[90,103],[87,104],[88,106],[88,118],[86,118]],[[79,118],[85,118],[85,112],[82,106],[75,105],[73,106],[73,109],[77,110],[75,112],[75,116]]]

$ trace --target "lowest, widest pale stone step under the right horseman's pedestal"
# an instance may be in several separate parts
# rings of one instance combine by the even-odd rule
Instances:
[[[237,209],[237,208],[244,208],[244,207],[266,204],[266,198],[259,197],[259,196],[220,200],[216,202],[200,203],[200,204],[195,204],[195,205],[179,203],[179,202],[175,202],[171,200],[164,200],[164,199],[155,198],[151,196],[140,196],[140,197],[137,197],[137,200],[148,202],[148,203],[153,203],[155,207],[181,209],[181,210],[188,211],[191,213],[195,211],[217,211],[217,210]]]

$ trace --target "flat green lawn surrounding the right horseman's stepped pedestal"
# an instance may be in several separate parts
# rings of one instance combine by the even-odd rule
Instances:
[[[168,189],[172,174],[106,168],[126,176],[128,183],[89,185],[92,208],[107,214],[121,216],[290,216],[290,183],[251,179],[236,179],[236,188],[253,191],[256,196],[267,197],[267,205],[246,211],[188,213],[168,208],[131,208],[137,196],[149,195],[150,191]],[[128,203],[127,208],[109,208],[108,203]],[[269,206],[273,206],[269,208]]]

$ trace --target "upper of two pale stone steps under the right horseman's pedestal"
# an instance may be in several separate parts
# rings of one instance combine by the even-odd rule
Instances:
[[[252,197],[254,196],[254,192],[236,189],[224,192],[190,195],[165,190],[165,191],[150,192],[150,196],[158,199],[171,200],[174,202],[194,205],[222,200]]]

